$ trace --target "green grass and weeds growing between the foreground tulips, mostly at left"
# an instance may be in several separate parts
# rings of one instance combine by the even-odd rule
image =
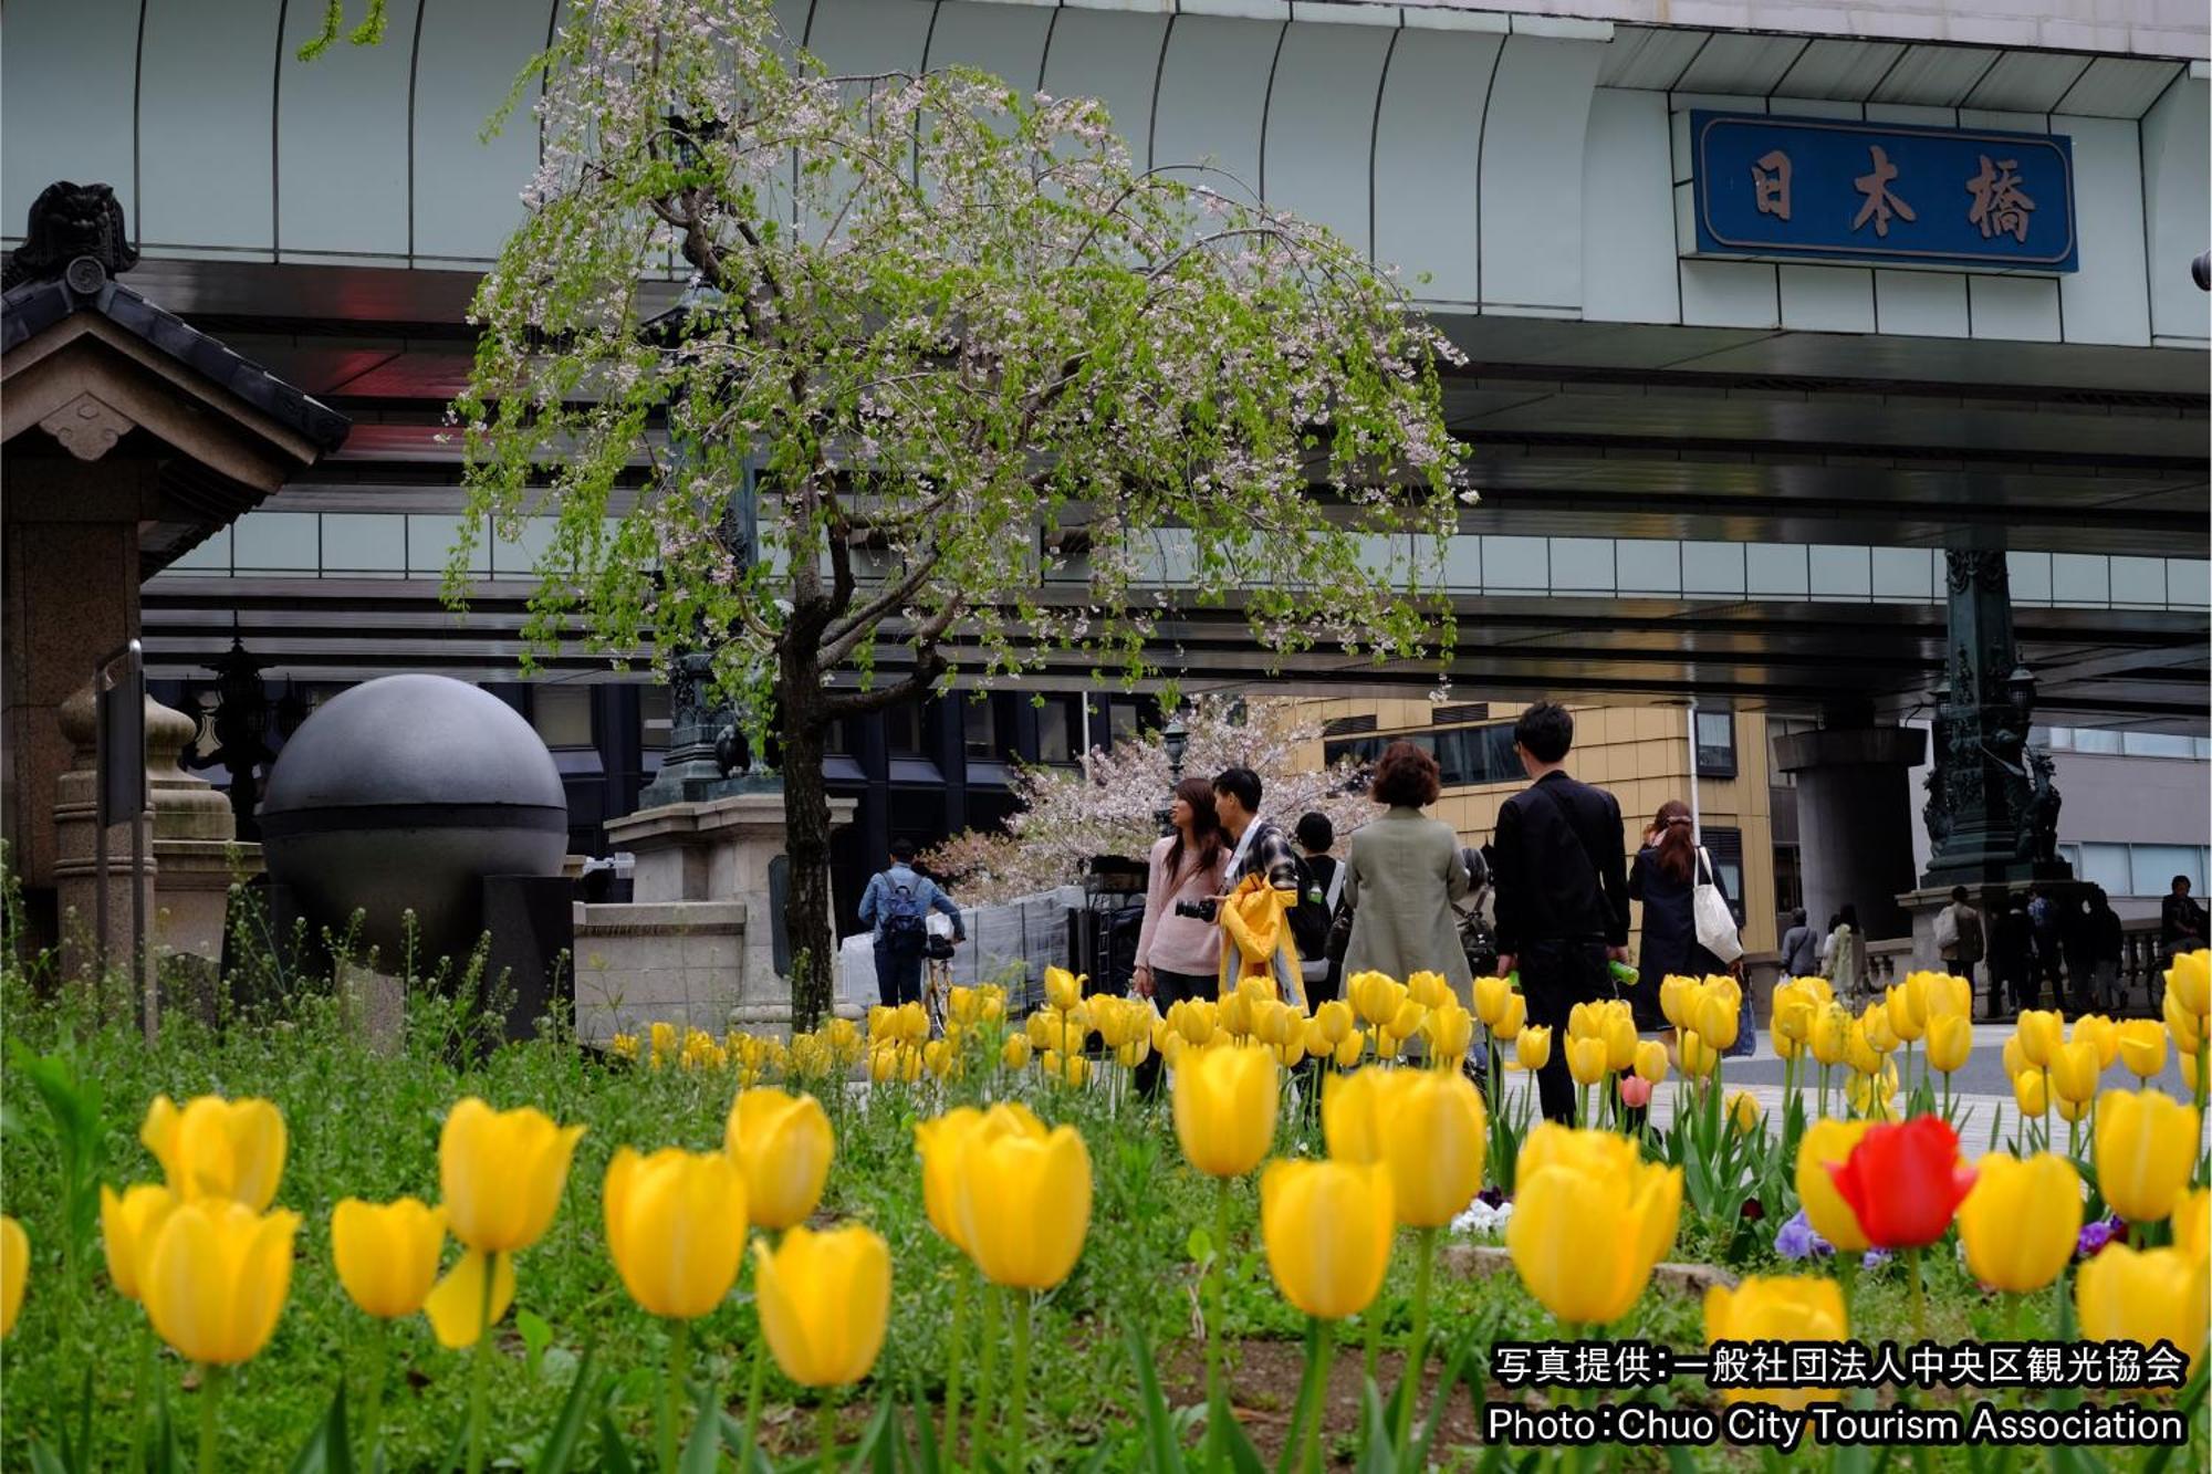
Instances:
[[[728,1073],[639,1069],[580,1049],[551,1029],[546,1036],[471,1049],[473,1020],[465,1005],[418,992],[409,998],[405,1038],[396,1053],[372,1051],[345,1023],[327,992],[290,998],[279,1011],[239,1018],[223,1027],[175,1014],[159,1045],[146,1047],[119,1018],[100,1018],[82,989],[35,998],[20,972],[0,978],[9,1036],[9,1067],[0,1076],[7,1142],[0,1155],[0,1193],[22,1219],[33,1244],[31,1290],[15,1335],[0,1354],[7,1405],[0,1423],[0,1467],[31,1467],[31,1441],[58,1443],[77,1408],[84,1368],[93,1368],[93,1467],[126,1467],[133,1368],[144,1332],[135,1304],[106,1281],[97,1248],[71,1286],[62,1264],[62,1162],[42,1129],[44,1107],[27,1082],[24,1056],[60,1053],[102,1102],[102,1180],[115,1186],[155,1180],[159,1169],[137,1142],[146,1102],[166,1091],[175,1100],[217,1091],[263,1096],[276,1102],[290,1129],[290,1160],[276,1202],[303,1215],[299,1259],[285,1315],[270,1346],[232,1379],[223,1397],[228,1470],[290,1467],[294,1450],[314,1428],[338,1379],[352,1379],[358,1416],[367,1363],[367,1324],[345,1299],[330,1259],[330,1211],[347,1195],[387,1200],[438,1195],[438,1129],[462,1096],[495,1107],[538,1104],[560,1122],[588,1127],[551,1233],[518,1262],[518,1312],[500,1328],[493,1357],[491,1450],[493,1467],[526,1467],[544,1439],[577,1359],[591,1348],[602,1368],[615,1368],[613,1419],[650,1447],[650,1428],[666,1354],[664,1328],[635,1308],[606,1257],[599,1184],[617,1146],[681,1144],[712,1149],[723,1140],[723,1118],[734,1082]],[[958,1087],[953,1087],[958,1089]],[[1194,1374],[1194,1266],[1190,1231],[1210,1222],[1212,1184],[1183,1166],[1164,1107],[1121,1100],[1108,1120],[1097,1093],[1051,1091],[1031,1084],[1046,1120],[1084,1129],[1093,1151],[1095,1206],[1091,1237],[1075,1275],[1046,1295],[1037,1321],[1031,1450],[1046,1467],[1073,1467],[1104,1450],[1106,1467],[1141,1467],[1137,1443],[1139,1388],[1126,1352],[1135,1328],[1159,1348],[1170,1401],[1203,1399]],[[973,1091],[969,1091],[973,1093]],[[933,1087],[827,1091],[838,1158],[823,1200],[823,1219],[858,1219],[889,1239],[894,1262],[891,1332],[876,1377],[843,1410],[856,1430],[889,1388],[900,1397],[936,1401],[949,1366],[947,1328],[958,1268],[956,1255],[929,1228],[914,1160],[914,1124],[945,1104]],[[1279,1151],[1318,1151],[1318,1131],[1285,1120]],[[1767,1233],[1754,1235],[1739,1270],[1787,1273],[1772,1250],[1772,1224],[1796,1204],[1765,1204]],[[1274,1293],[1259,1246],[1252,1184],[1234,1195],[1234,1257],[1225,1304],[1225,1332],[1241,1343],[1248,1372],[1237,1383],[1252,1412],[1254,1439],[1270,1447],[1267,1425],[1296,1394],[1281,1366],[1303,1335],[1303,1319]],[[1741,1248],[1741,1244],[1739,1244]],[[449,1246],[447,1250],[456,1250]],[[1690,1217],[1672,1259],[1719,1259],[1717,1233]],[[754,1312],[739,1293],[695,1326],[695,1374],[710,1377],[732,1414],[743,1408],[743,1381],[754,1343]],[[1955,1341],[2000,1335],[2000,1308],[1982,1297],[1949,1250],[1931,1253],[1931,1337]],[[1411,1253],[1400,1253],[1385,1288],[1387,1343],[1409,1330]],[[2048,1335],[2051,1297],[2031,1304],[2022,1321],[2028,1337]],[[1860,1339],[1909,1339],[1909,1310],[1898,1273],[1860,1284],[1854,1330]],[[1444,1277],[1438,1288],[1438,1354],[1467,1354],[1480,1381],[1482,1350],[1493,1339],[1548,1339],[1551,1317],[1513,1275]],[[524,1330],[529,1335],[524,1335]],[[1358,1361],[1358,1328],[1345,1328],[1340,1363]],[[1613,1328],[1624,1339],[1648,1339],[1690,1350],[1701,1346],[1701,1306],[1681,1288],[1646,1293],[1630,1317]],[[467,1405],[467,1352],[447,1352],[420,1317],[394,1326],[392,1377],[385,1397],[389,1467],[442,1467]],[[1179,1372],[1181,1368],[1181,1372]],[[188,1368],[161,1350],[157,1377],[177,1408],[177,1421],[197,1423],[199,1392]],[[1259,1377],[1259,1385],[1254,1385]],[[1294,1377],[1294,1370],[1290,1372]],[[1285,1385],[1267,1385],[1283,1381]],[[1495,1388],[1491,1397],[1504,1397]],[[1449,1430],[1478,1425],[1473,1392],[1453,1394],[1467,1416]],[[1670,1401],[1703,1399],[1701,1385],[1672,1388]],[[973,1408],[973,1399],[969,1403]],[[812,1452],[814,1397],[772,1374],[763,1441],[770,1450]],[[1356,1403],[1332,1412],[1327,1445],[1349,1452]],[[1475,1454],[1460,1439],[1447,1450],[1453,1465]],[[580,1467],[593,1467],[586,1454]],[[1652,1456],[1657,1459],[1657,1454]],[[1639,1454],[1630,1454],[1641,1465]],[[1750,1456],[1705,1450],[1699,1465],[1747,1467]],[[1938,1454],[1936,1467],[1962,1467]]]

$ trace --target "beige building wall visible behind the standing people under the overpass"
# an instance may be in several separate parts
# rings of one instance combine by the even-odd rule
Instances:
[[[1411,735],[1444,730],[1433,724],[1429,702],[1314,702],[1321,722],[1343,717],[1376,719],[1374,735]],[[1571,706],[1575,713],[1575,752],[1568,772],[1584,783],[1608,788],[1621,803],[1621,841],[1630,857],[1644,841],[1644,826],[1668,799],[1690,801],[1690,715],[1681,706]],[[1489,726],[1506,722],[1517,706],[1491,706]],[[1747,952],[1772,952],[1774,936],[1774,821],[1770,812],[1767,724],[1759,713],[1736,713],[1736,777],[1697,781],[1699,819],[1708,828],[1732,828],[1743,834],[1743,945]],[[1367,735],[1367,733],[1360,733]],[[1321,741],[1312,744],[1307,761],[1321,764]],[[1524,783],[1475,783],[1444,788],[1433,814],[1460,837],[1480,845],[1498,828],[1498,808]],[[1639,936],[1644,907],[1632,910]],[[1635,938],[1632,938],[1635,941]]]

